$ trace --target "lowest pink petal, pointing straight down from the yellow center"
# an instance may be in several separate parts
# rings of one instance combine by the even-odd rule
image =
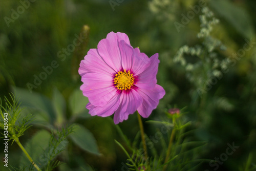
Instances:
[[[117,124],[128,119],[129,114],[133,114],[142,103],[142,97],[136,91],[131,89],[129,92],[122,92],[120,104],[114,114],[114,123]]]

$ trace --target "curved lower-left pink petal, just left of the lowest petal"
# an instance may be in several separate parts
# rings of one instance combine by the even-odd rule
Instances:
[[[86,105],[86,108],[89,109],[89,114],[92,116],[101,116],[101,117],[107,117],[112,115],[119,105],[119,97],[120,94],[116,94],[108,103],[106,103],[103,106],[94,106],[90,102]]]

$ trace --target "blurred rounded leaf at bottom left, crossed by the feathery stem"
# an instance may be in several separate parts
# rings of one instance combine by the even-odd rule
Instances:
[[[42,130],[37,132],[25,145],[26,151],[39,167],[41,166],[41,163],[45,163],[45,161],[42,160],[45,156],[45,149],[49,145],[50,137],[51,136],[49,132]],[[23,154],[20,160],[20,165],[22,167],[29,167],[30,164],[31,163],[29,159],[26,157],[25,154]]]

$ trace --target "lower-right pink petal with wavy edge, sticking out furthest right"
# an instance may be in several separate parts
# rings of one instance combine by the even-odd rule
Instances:
[[[138,112],[142,117],[147,118],[152,111],[157,108],[159,99],[163,98],[165,91],[158,84],[156,84],[153,90],[137,89],[137,91],[143,98],[143,102],[139,106]]]

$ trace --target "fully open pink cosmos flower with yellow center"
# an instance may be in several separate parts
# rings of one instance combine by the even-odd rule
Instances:
[[[78,70],[83,82],[80,89],[88,97],[86,108],[92,116],[114,114],[115,124],[138,110],[146,118],[165,95],[156,79],[158,53],[148,58],[130,45],[124,33],[110,32],[90,49]]]

